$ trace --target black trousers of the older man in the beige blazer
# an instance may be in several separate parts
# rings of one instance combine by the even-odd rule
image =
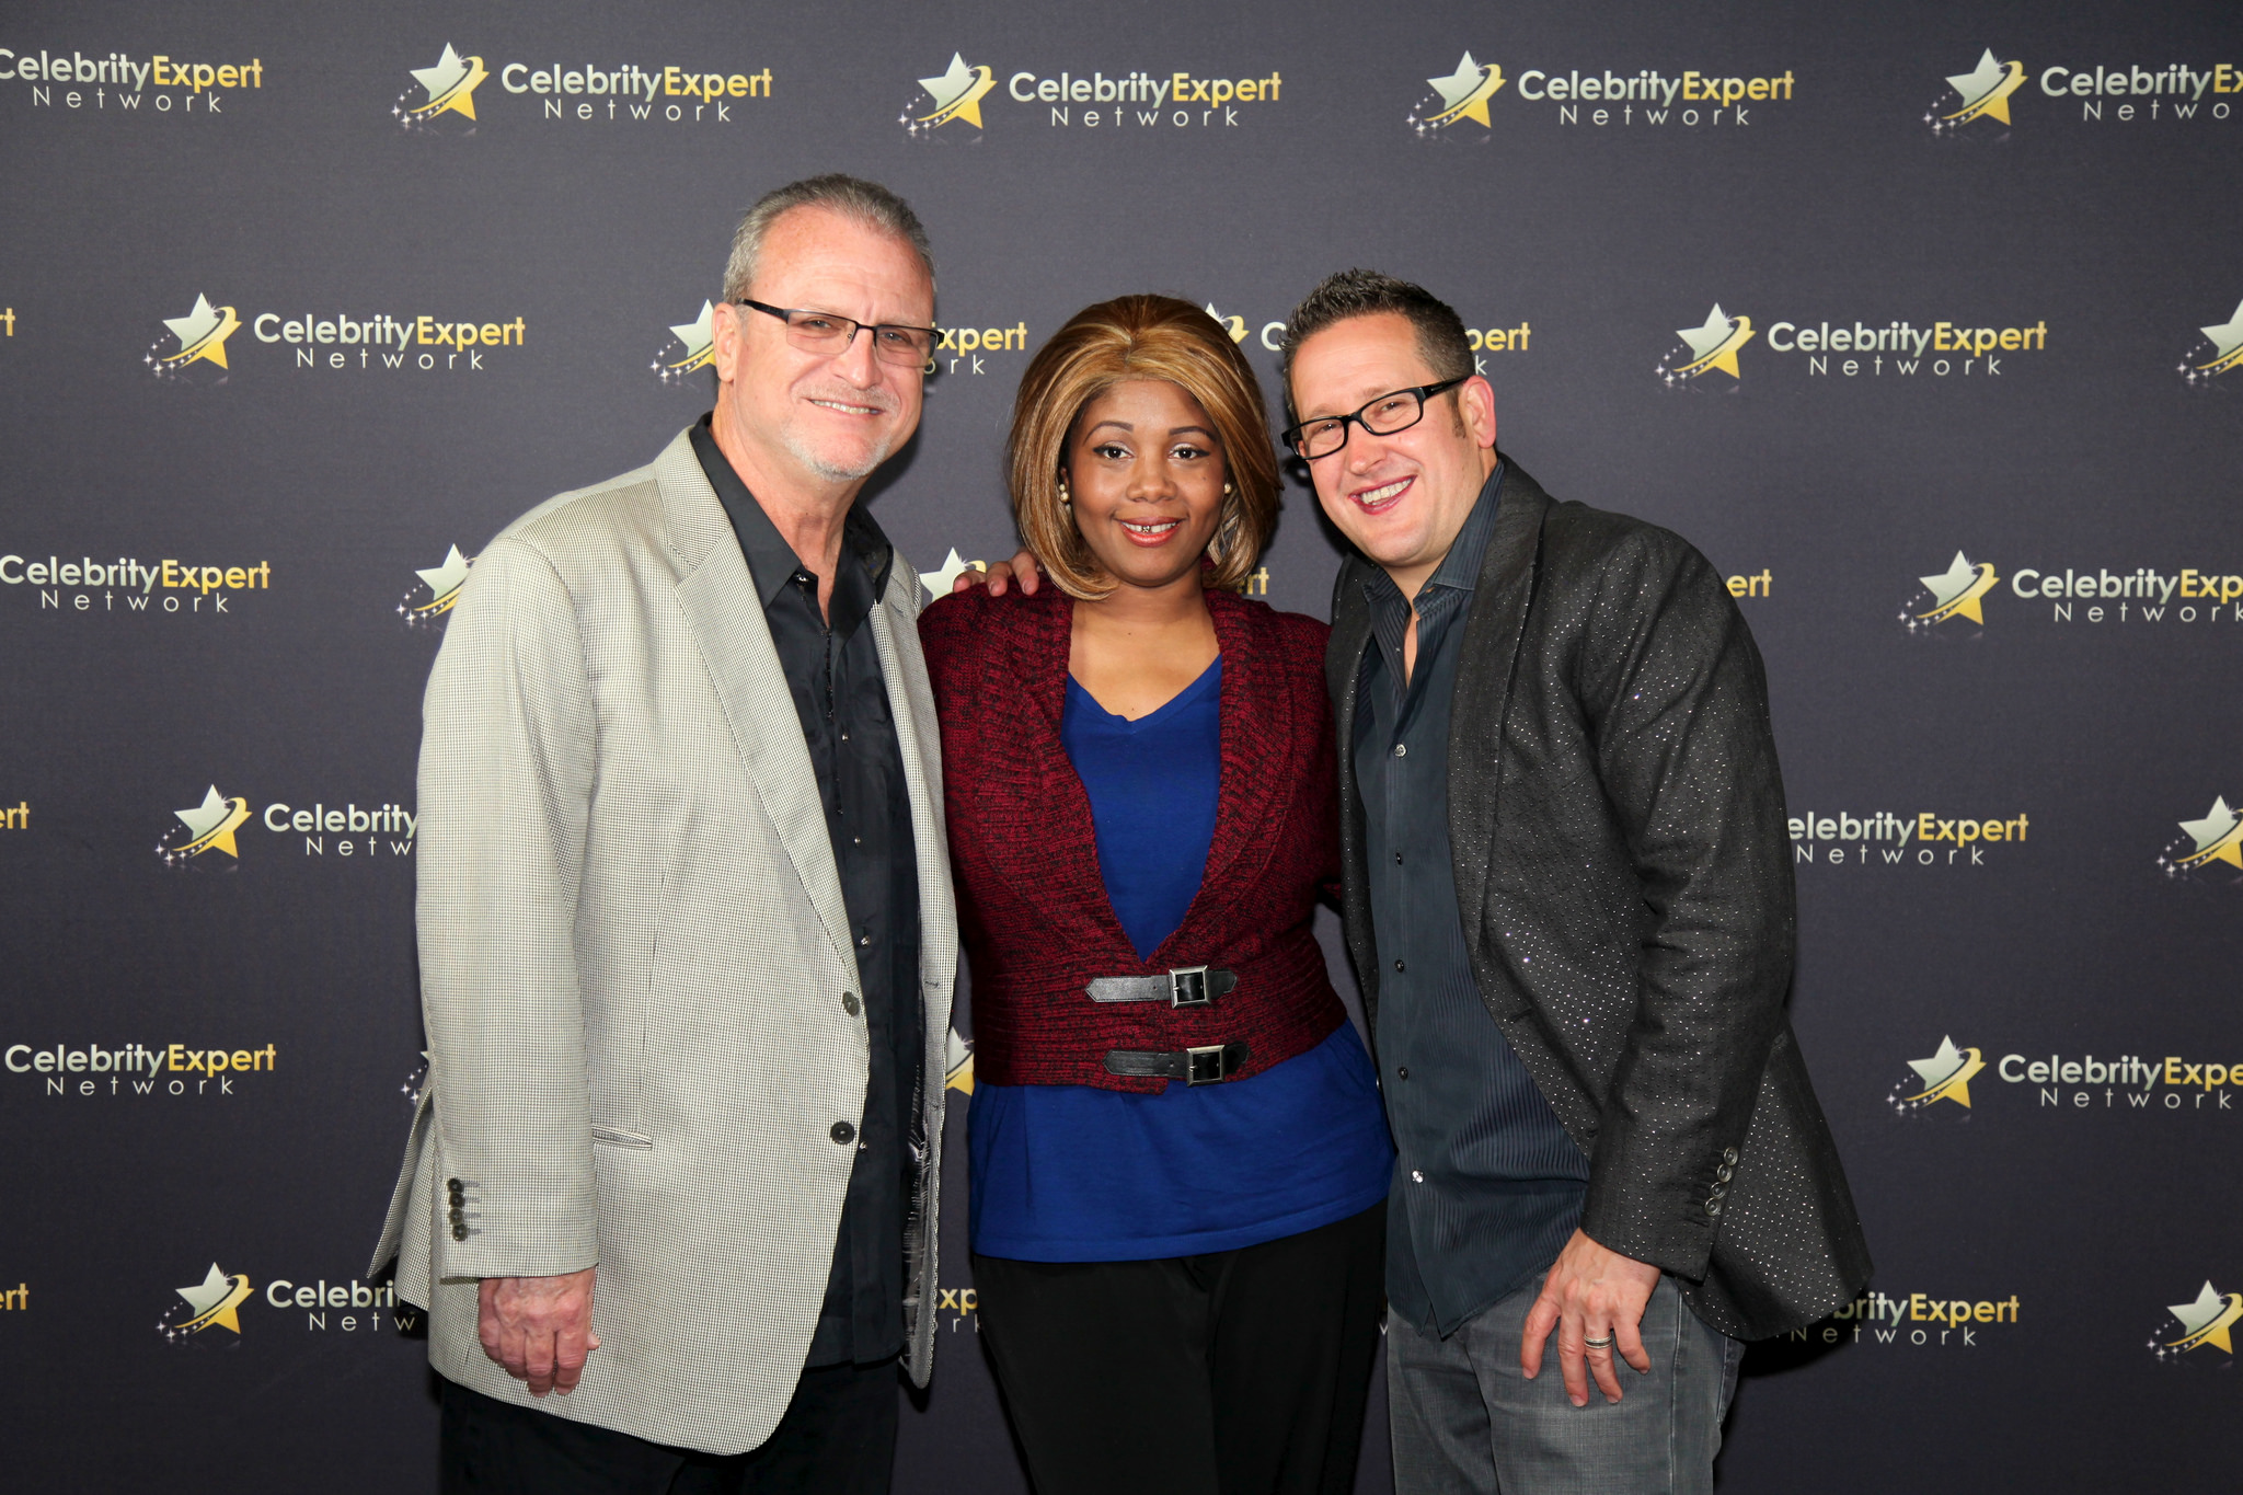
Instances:
[[[895,1361],[805,1369],[760,1448],[709,1455],[444,1381],[444,1495],[888,1495]]]

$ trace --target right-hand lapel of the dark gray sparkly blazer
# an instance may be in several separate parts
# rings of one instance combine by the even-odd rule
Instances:
[[[1541,524],[1550,495],[1507,462],[1498,489],[1496,531],[1465,619],[1465,652],[1449,715],[1449,858],[1456,901],[1471,944],[1487,912],[1487,861],[1496,836],[1503,780],[1503,713],[1512,699],[1519,643],[1539,576]]]

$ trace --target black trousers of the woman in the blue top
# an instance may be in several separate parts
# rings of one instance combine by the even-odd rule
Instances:
[[[1213,1255],[973,1257],[1039,1495],[1346,1495],[1386,1311],[1386,1204]]]

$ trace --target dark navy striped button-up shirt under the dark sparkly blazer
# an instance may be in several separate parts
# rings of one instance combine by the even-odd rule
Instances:
[[[1501,484],[1498,464],[1418,589],[1418,668],[1406,686],[1411,605],[1370,569],[1350,744],[1379,957],[1379,1080],[1395,1134],[1386,1298],[1438,1334],[1548,1271],[1588,1197],[1588,1159],[1471,979],[1449,854],[1449,708]]]

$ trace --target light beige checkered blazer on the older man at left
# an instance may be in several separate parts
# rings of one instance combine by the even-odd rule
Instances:
[[[873,637],[920,861],[924,1385],[958,926],[917,585],[897,556]],[[794,699],[684,435],[476,560],[424,706],[417,917],[431,1065],[375,1269],[395,1255],[428,1309],[435,1369],[659,1443],[763,1443],[825,1296],[868,1038]],[[532,1403],[476,1340],[476,1280],[594,1264],[601,1347]]]

